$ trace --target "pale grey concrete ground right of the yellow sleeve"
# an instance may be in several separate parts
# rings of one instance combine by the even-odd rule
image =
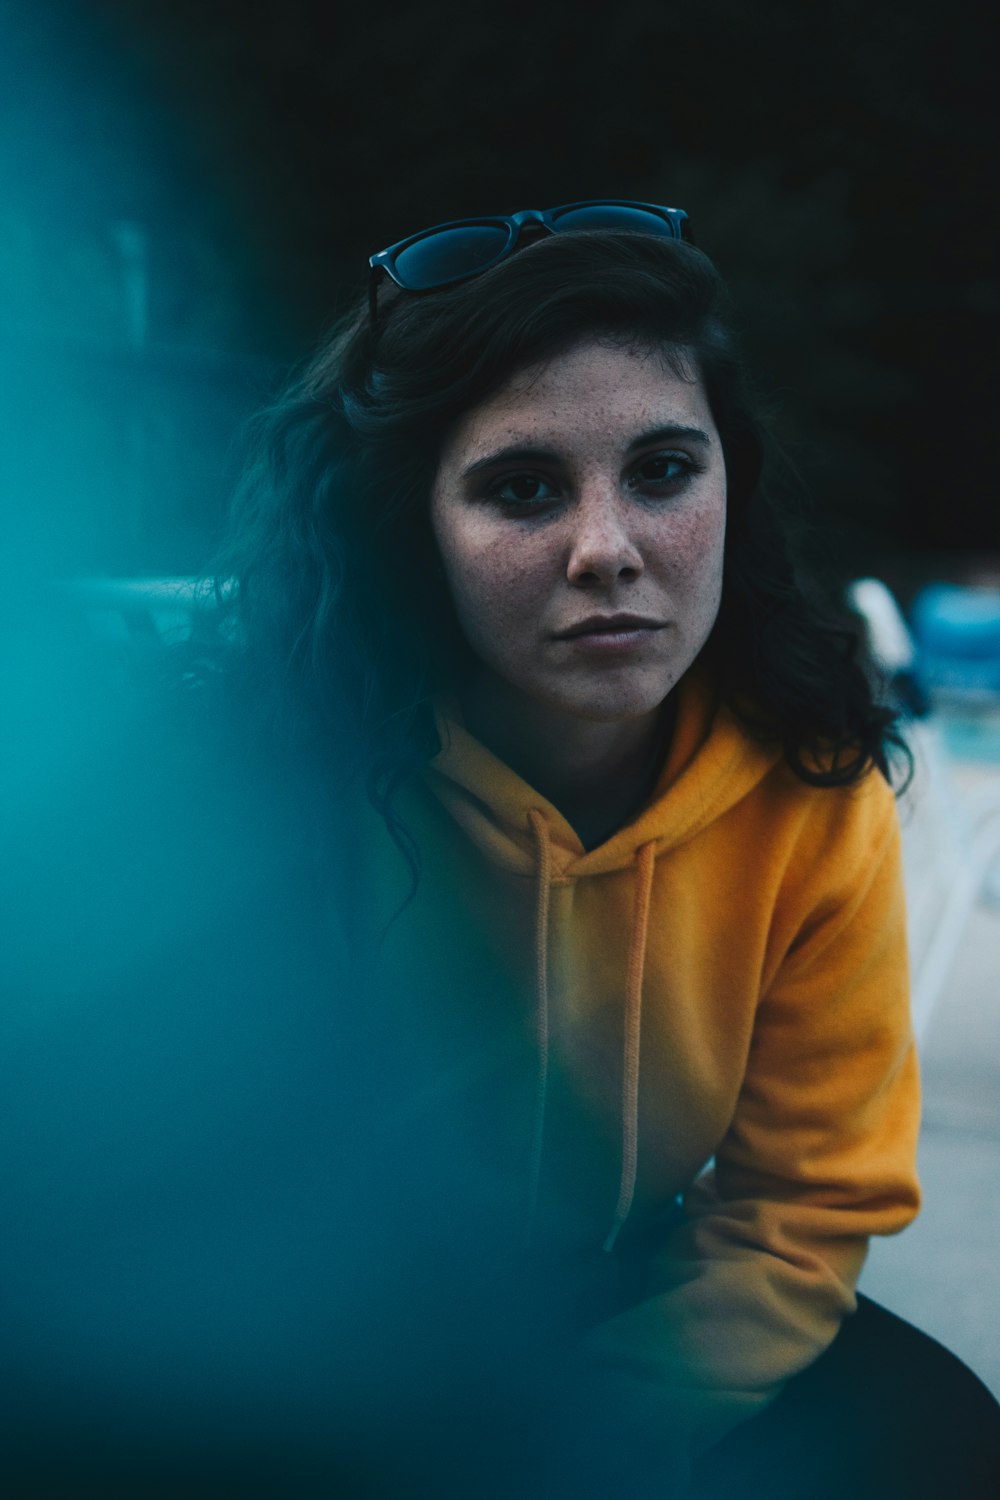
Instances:
[[[1000,744],[1000,741],[999,741]],[[1000,764],[960,760],[961,796],[996,795]],[[925,1206],[879,1239],[861,1288],[934,1335],[1000,1396],[1000,891],[972,909],[922,1042]]]

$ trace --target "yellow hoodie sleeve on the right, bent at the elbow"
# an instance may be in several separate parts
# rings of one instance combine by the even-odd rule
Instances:
[[[774,920],[738,1106],[588,1352],[697,1454],[754,1416],[853,1312],[870,1234],[918,1212],[919,1088],[898,822],[880,777],[822,794]],[[655,1392],[655,1395],[654,1395]]]

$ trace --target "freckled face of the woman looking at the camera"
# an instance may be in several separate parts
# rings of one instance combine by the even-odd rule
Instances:
[[[571,718],[655,710],[718,614],[726,465],[700,381],[588,339],[444,446],[432,525],[481,668]]]

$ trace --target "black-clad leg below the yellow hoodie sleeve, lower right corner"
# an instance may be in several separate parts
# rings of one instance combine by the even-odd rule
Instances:
[[[1000,1500],[1000,1406],[859,1296],[825,1354],[708,1454],[693,1500]]]

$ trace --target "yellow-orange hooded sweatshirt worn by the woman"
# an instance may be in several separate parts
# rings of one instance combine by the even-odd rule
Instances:
[[[441,1040],[427,1098],[520,1182],[511,1256],[639,1266],[585,1348],[697,1450],[822,1353],[868,1236],[919,1206],[892,794],[807,786],[688,675],[649,802],[585,850],[456,716],[441,736],[381,942]],[[378,868],[384,926],[406,879]]]

